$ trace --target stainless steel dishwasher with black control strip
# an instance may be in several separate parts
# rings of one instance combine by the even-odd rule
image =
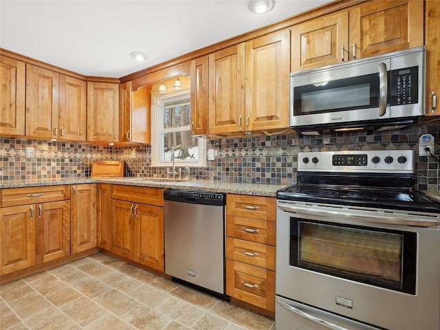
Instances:
[[[223,300],[225,294],[225,195],[164,191],[165,272],[173,281]]]

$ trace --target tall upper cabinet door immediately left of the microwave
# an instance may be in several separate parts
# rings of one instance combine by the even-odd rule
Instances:
[[[245,43],[245,131],[289,126],[290,32]]]

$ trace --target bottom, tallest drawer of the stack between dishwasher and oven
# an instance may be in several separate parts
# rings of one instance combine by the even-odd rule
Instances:
[[[275,272],[226,259],[226,294],[274,311]]]

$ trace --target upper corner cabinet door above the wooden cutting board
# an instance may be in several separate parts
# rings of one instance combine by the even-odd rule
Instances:
[[[119,141],[119,85],[87,83],[87,141]]]

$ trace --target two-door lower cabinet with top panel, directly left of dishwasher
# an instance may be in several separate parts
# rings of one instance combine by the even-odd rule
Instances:
[[[111,186],[111,251],[164,272],[163,189]]]

